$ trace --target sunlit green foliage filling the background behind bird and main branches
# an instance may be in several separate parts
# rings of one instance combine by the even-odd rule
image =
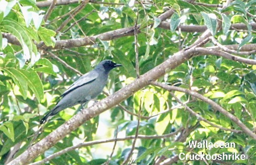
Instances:
[[[110,73],[104,91],[112,94],[174,53],[189,48],[206,28],[214,37],[201,45],[205,48],[217,45],[217,49],[222,50],[224,45],[236,46],[229,47],[231,52],[223,51],[251,63],[217,55],[198,55],[168,71],[158,81],[197,91],[255,131],[256,66],[252,64],[255,64],[256,0],[59,3],[57,0],[51,3],[0,0],[0,164],[19,156],[81,109],[75,106],[60,112],[34,136],[40,119],[55,106],[57,97],[99,61],[112,59],[124,66]],[[161,19],[169,10],[174,11],[171,17]],[[138,29],[134,30],[134,26]],[[87,43],[83,39],[87,39]],[[239,54],[246,44],[253,49],[244,49],[245,53]],[[169,160],[169,164],[204,164],[203,161],[180,161],[177,159],[180,152],[211,155],[237,152],[246,154],[248,159],[236,163],[255,163],[255,139],[244,133],[243,128],[205,101],[178,91],[173,94],[176,97],[166,89],[146,86],[121,105],[86,121],[33,162],[79,143],[115,138],[116,133],[117,137],[136,137],[138,132],[146,136],[170,136],[133,137],[118,141],[115,147],[114,141],[109,145],[87,145],[61,154],[46,164],[119,165],[127,160],[138,165],[158,165],[168,162],[169,158],[172,161]],[[102,94],[98,99],[104,97]],[[184,104],[219,127],[199,120]],[[141,115],[140,126],[138,114]],[[176,135],[170,134],[173,132]],[[237,145],[230,149],[191,150],[189,140],[235,142]]]

